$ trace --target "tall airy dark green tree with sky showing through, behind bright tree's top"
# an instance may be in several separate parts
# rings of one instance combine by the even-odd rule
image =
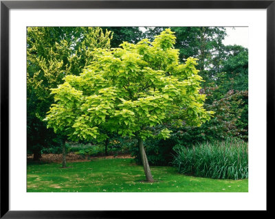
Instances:
[[[206,82],[221,71],[225,59],[225,47],[222,43],[226,36],[224,27],[170,27],[175,32],[179,49],[179,60],[188,57],[198,58],[197,69]],[[145,32],[148,38],[162,32],[164,27],[151,27]],[[230,51],[230,48],[226,51]]]

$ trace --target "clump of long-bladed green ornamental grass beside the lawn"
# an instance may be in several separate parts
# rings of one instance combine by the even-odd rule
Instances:
[[[177,146],[173,165],[181,174],[208,178],[248,178],[248,143],[239,139]]]

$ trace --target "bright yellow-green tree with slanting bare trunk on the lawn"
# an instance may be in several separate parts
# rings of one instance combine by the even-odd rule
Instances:
[[[144,140],[165,139],[170,130],[159,124],[200,126],[212,112],[203,109],[205,95],[199,93],[201,77],[197,62],[179,62],[173,48],[175,36],[164,30],[151,43],[144,39],[122,48],[95,49],[94,62],[80,76],[66,76],[52,89],[52,104],[45,120],[55,132],[72,140],[97,139],[107,135],[101,130],[134,137],[140,149],[146,180],[153,181]]]

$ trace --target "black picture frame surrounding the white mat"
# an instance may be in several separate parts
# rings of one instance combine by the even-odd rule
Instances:
[[[143,211],[10,211],[9,208],[9,13],[10,9],[266,9],[267,10],[267,151],[274,146],[275,0],[272,1],[1,1],[1,215],[0,218],[132,218]],[[267,152],[267,154],[269,154]],[[270,160],[268,160],[270,161]],[[267,162],[268,163],[268,162]],[[267,165],[268,166],[268,165]],[[269,207],[267,205],[267,211]],[[187,214],[185,211],[184,214]],[[231,212],[232,213],[232,212]],[[163,216],[164,212],[162,212]],[[210,214],[203,211],[203,214]],[[156,217],[156,212],[146,212]]]

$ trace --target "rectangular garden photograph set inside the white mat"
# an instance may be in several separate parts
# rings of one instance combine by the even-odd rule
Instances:
[[[248,32],[26,27],[26,192],[248,193]]]

